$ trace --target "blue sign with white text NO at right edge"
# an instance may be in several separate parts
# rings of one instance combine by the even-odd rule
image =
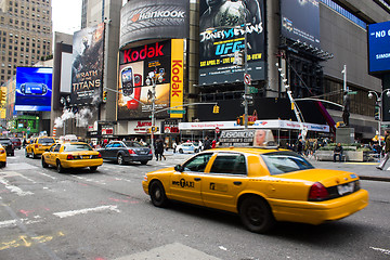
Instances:
[[[368,72],[390,70],[390,22],[368,25]]]

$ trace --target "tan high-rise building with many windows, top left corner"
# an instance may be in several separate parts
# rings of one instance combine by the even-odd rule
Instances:
[[[0,0],[0,83],[52,54],[51,0]]]

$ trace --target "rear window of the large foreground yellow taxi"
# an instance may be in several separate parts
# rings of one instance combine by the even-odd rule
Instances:
[[[314,168],[308,160],[294,152],[273,152],[262,154],[261,157],[271,176]]]

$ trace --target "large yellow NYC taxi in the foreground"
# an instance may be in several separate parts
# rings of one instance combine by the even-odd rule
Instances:
[[[252,232],[276,221],[321,224],[367,206],[356,174],[315,169],[298,154],[278,148],[217,148],[174,168],[146,173],[142,182],[156,207],[170,199],[238,213]]]

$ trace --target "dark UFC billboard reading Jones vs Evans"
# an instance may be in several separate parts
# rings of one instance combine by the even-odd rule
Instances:
[[[245,50],[252,80],[265,79],[264,0],[207,1],[199,10],[199,84],[244,80],[234,53]]]

